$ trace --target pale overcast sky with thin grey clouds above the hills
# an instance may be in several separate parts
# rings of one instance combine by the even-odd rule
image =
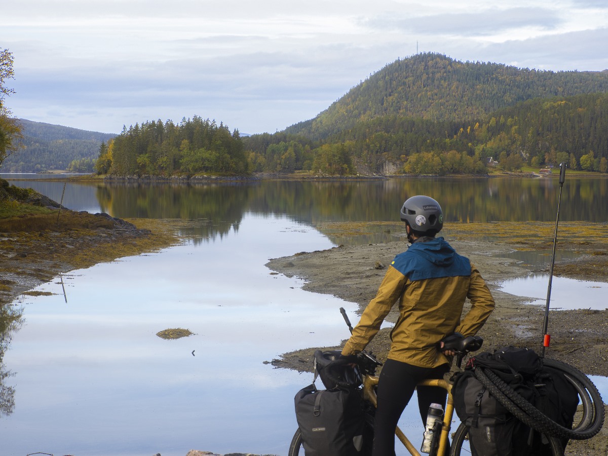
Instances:
[[[14,0],[0,48],[16,117],[120,133],[201,116],[274,133],[416,50],[608,69],[608,1]]]

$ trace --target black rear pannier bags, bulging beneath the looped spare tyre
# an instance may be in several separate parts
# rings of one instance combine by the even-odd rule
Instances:
[[[477,456],[550,455],[547,441],[523,424],[492,396],[475,377],[474,369],[491,369],[551,420],[572,429],[578,393],[561,371],[543,367],[527,348],[485,351],[469,360],[452,387],[454,409],[469,427],[472,454]],[[562,440],[562,446],[568,439]]]

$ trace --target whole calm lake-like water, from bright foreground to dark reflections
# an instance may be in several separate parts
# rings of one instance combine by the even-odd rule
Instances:
[[[607,179],[568,179],[561,220],[608,220]],[[60,201],[64,183],[15,181]],[[326,249],[323,221],[390,221],[407,196],[441,201],[447,221],[554,221],[549,179],[392,179],[248,184],[75,184],[63,204],[117,217],[181,219],[184,244],[72,271],[21,297],[4,353],[12,411],[2,454],[183,456],[190,449],[285,455],[293,396],[309,374],[263,364],[348,336],[354,305],[271,275],[269,258]],[[358,242],[391,240],[378,232]],[[546,292],[546,284],[544,285]],[[67,299],[67,303],[66,303]],[[194,336],[162,340],[165,328]],[[194,351],[194,353],[193,353]],[[401,424],[414,428],[416,412]],[[420,435],[421,437],[421,435]]]

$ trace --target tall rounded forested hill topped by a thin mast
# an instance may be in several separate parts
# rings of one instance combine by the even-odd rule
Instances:
[[[531,98],[593,92],[608,92],[608,71],[537,71],[416,54],[388,64],[317,117],[292,125],[285,133],[325,139],[387,115],[434,122],[482,120]]]

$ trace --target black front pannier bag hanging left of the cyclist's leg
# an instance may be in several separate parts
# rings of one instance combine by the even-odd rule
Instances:
[[[336,361],[340,351],[315,353],[313,383],[295,395],[305,456],[362,456],[365,426],[358,368]],[[317,390],[319,375],[326,390]]]

